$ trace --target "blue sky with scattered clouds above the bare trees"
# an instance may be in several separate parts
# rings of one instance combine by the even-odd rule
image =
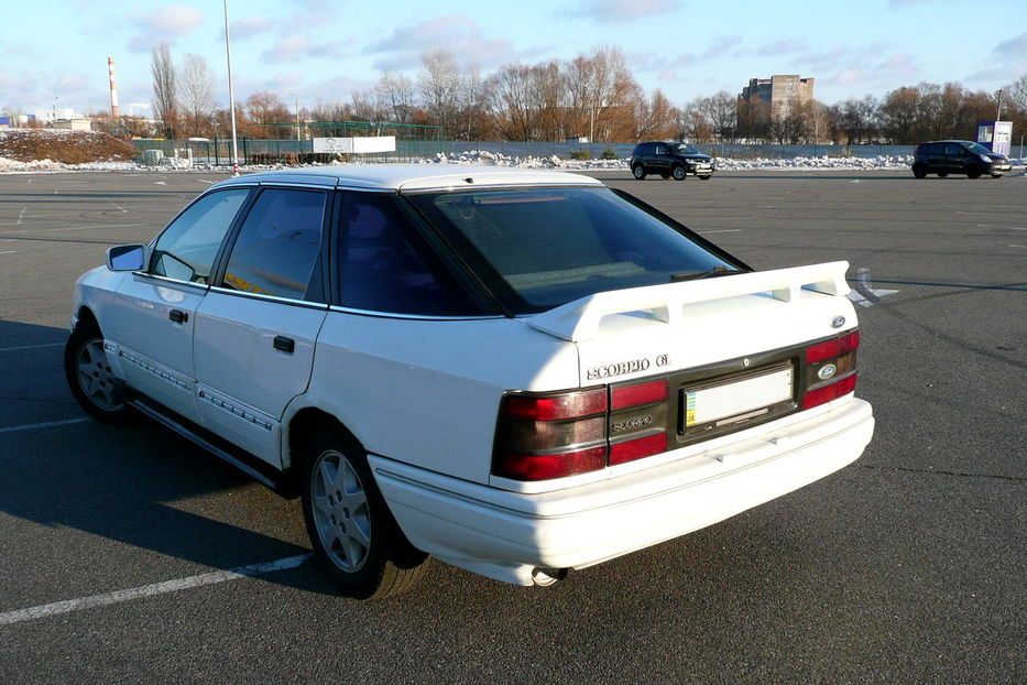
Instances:
[[[774,74],[811,76],[833,104],[920,81],[993,93],[1016,80],[1027,74],[1024,1],[234,0],[229,19],[237,100],[270,90],[291,108],[347,101],[383,69],[416,78],[425,51],[487,75],[598,46],[619,47],[638,84],[676,105]],[[149,116],[161,41],[176,62],[204,56],[228,102],[221,0],[6,4],[0,112],[106,109],[112,56],[122,112]]]

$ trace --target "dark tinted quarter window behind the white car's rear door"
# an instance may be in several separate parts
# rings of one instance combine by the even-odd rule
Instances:
[[[339,240],[342,306],[423,316],[474,316],[480,307],[449,274],[394,195],[347,193]]]

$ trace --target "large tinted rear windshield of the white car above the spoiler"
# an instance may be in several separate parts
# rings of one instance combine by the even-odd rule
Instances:
[[[738,269],[728,255],[609,188],[408,197],[512,314],[544,312],[602,291],[669,283],[717,267]]]

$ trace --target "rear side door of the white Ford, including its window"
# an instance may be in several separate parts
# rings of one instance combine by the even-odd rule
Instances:
[[[261,188],[196,309],[203,425],[275,466],[282,415],[307,389],[328,311],[330,199],[326,189]]]

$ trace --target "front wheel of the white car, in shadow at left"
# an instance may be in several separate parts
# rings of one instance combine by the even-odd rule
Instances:
[[[125,423],[131,410],[124,403],[124,387],[114,377],[103,349],[103,334],[81,323],[64,346],[64,376],[72,394],[87,414],[108,423]]]

